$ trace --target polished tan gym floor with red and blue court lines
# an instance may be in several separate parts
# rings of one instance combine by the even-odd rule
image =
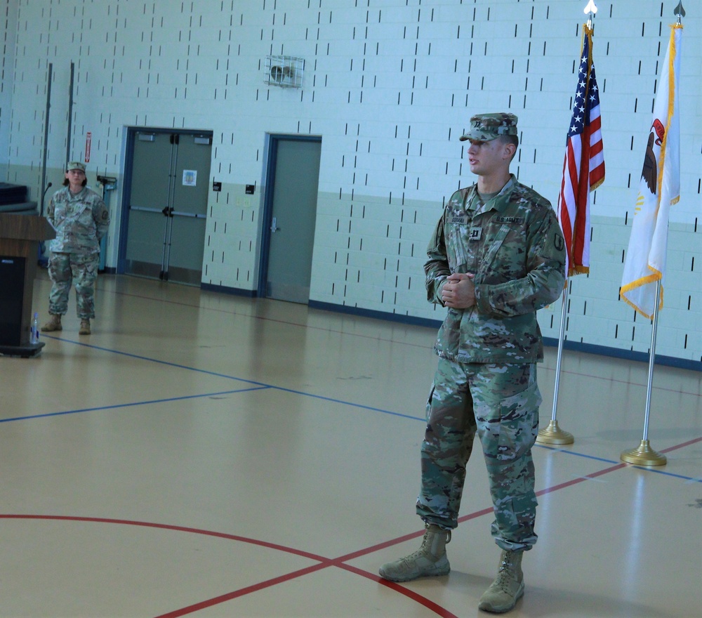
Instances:
[[[46,320],[50,282],[37,276]],[[0,618],[477,617],[498,548],[475,452],[451,573],[416,549],[435,329],[115,275],[93,334],[0,357]],[[552,413],[555,348],[538,378]],[[702,374],[566,350],[510,617],[702,615]]]

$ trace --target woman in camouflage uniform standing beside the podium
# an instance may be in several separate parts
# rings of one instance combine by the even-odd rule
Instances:
[[[95,317],[95,279],[100,262],[100,239],[110,225],[105,202],[86,187],[86,166],[70,162],[66,166],[64,188],[55,192],[46,218],[56,230],[51,241],[48,274],[53,283],[49,296],[50,319],[42,331],[60,331],[61,316],[68,310],[68,293],[76,285],[76,305],[81,320],[79,334],[91,333]]]

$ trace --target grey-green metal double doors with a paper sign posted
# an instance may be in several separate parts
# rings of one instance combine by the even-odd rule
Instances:
[[[211,136],[136,131],[124,272],[199,285]]]

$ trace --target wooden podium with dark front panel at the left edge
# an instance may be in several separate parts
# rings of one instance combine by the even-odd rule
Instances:
[[[0,213],[0,354],[28,358],[44,343],[31,343],[32,294],[39,242],[55,238],[46,217]]]

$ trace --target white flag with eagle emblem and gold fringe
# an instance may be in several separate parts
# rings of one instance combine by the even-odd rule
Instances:
[[[675,24],[658,82],[654,118],[641,171],[629,248],[619,294],[638,313],[653,318],[663,308],[670,205],[680,199],[680,113],[677,103],[682,25]],[[656,298],[658,281],[661,294]]]

